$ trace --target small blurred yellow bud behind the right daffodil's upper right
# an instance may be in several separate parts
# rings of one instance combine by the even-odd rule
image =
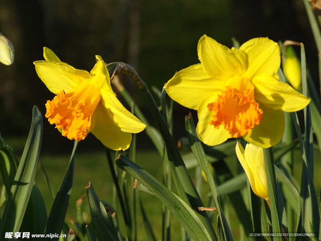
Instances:
[[[302,88],[301,64],[299,59],[295,56],[294,50],[290,45],[286,48],[286,58],[283,65],[283,72],[294,89],[299,90]]]

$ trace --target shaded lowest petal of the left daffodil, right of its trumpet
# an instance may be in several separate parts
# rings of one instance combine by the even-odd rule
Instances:
[[[94,128],[91,128],[91,133],[98,138],[102,144],[112,150],[126,150],[132,141],[132,134],[121,131],[114,121],[109,117],[108,110],[102,103],[97,105],[97,108],[92,116]]]

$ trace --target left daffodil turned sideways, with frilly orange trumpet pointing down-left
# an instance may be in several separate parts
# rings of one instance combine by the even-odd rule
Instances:
[[[125,150],[132,133],[145,128],[118,101],[110,86],[106,65],[99,55],[91,72],[75,69],[61,62],[48,48],[46,61],[36,61],[36,72],[47,88],[56,96],[47,101],[46,117],[50,124],[62,130],[68,139],[83,140],[92,132],[106,147]]]

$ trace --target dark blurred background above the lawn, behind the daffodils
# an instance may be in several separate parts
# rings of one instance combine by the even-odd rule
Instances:
[[[199,62],[196,47],[203,34],[229,48],[232,36],[241,44],[255,37],[276,42],[289,39],[305,44],[309,69],[319,85],[317,48],[301,0],[1,1],[0,31],[16,50],[12,66],[0,65],[1,134],[4,138],[26,137],[32,107],[37,105],[44,118],[42,151],[47,153],[69,153],[73,141],[61,136],[44,117],[45,103],[54,94],[33,65],[44,59],[44,46],[63,62],[87,71],[97,54],[106,63],[127,62],[150,87],[161,89],[176,70]],[[151,120],[138,87],[120,78]],[[117,97],[128,108],[120,94]],[[176,140],[185,135],[184,117],[189,111],[174,104]],[[196,119],[196,112],[193,114]],[[145,133],[137,138],[138,148],[152,147]],[[78,150],[102,147],[91,134],[79,144]]]

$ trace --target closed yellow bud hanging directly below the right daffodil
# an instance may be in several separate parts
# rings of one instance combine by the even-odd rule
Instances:
[[[244,150],[238,142],[235,150],[253,192],[269,203],[263,148],[247,144]]]

